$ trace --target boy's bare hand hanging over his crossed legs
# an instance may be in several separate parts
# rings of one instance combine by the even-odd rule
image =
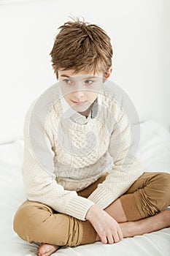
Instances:
[[[88,219],[93,225],[103,244],[117,243],[123,238],[120,225],[106,211],[98,208],[98,206],[91,206],[85,219]]]

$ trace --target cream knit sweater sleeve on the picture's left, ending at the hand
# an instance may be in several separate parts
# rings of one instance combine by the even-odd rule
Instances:
[[[85,197],[77,195],[76,191],[68,191],[57,183],[54,174],[53,124],[46,118],[45,129],[42,121],[31,124],[32,103],[26,113],[23,138],[23,181],[28,200],[37,201],[50,206],[55,211],[68,214],[77,219],[85,220],[85,215],[94,203]],[[36,116],[36,119],[39,116]],[[37,125],[39,124],[39,125]],[[40,132],[34,132],[40,131]],[[46,143],[42,143],[42,140]],[[48,169],[47,169],[48,168]],[[52,170],[53,169],[53,170]]]

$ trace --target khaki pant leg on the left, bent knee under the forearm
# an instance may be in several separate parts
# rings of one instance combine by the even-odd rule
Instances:
[[[92,185],[78,192],[88,197],[97,185],[104,181],[101,176]],[[82,221],[67,214],[60,214],[42,203],[26,200],[15,214],[13,228],[20,238],[32,243],[56,244],[58,246],[77,246],[92,244],[96,230],[88,220]]]

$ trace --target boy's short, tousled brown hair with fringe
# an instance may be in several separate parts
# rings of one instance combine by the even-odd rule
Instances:
[[[50,52],[52,66],[58,78],[58,69],[103,72],[112,66],[112,45],[106,32],[95,24],[79,19],[60,26]]]

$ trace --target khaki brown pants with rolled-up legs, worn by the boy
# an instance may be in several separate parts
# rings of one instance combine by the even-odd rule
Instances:
[[[78,192],[88,197],[108,173]],[[170,206],[170,174],[144,173],[120,197],[128,221],[152,216]],[[26,200],[15,214],[14,230],[20,238],[32,243],[77,246],[95,242],[96,231],[90,222],[60,214],[49,206]]]

